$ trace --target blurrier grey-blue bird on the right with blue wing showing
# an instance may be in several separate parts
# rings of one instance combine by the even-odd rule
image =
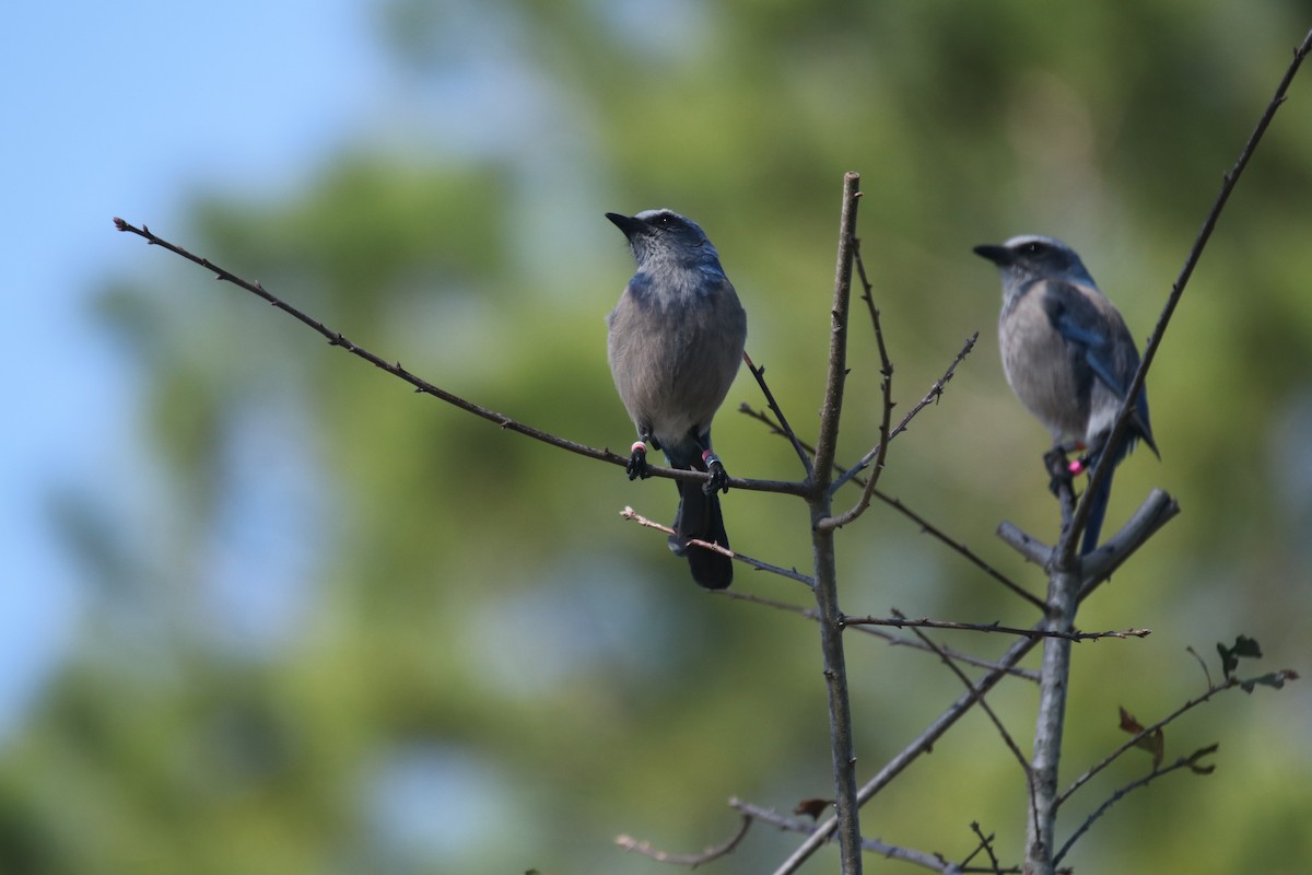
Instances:
[[[1055,237],[1022,235],[1001,245],[975,247],[975,253],[996,264],[1002,274],[997,329],[1006,382],[1030,413],[1048,426],[1054,450],[1088,450],[1068,470],[1092,471],[1105,453],[1117,466],[1139,441],[1161,458],[1148,421],[1147,388],[1135,399],[1120,443],[1107,446],[1139,369],[1139,350],[1120,314],[1098,290],[1075,249]],[[1081,554],[1098,544],[1110,495],[1111,471],[1089,500]]]

